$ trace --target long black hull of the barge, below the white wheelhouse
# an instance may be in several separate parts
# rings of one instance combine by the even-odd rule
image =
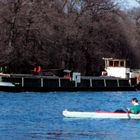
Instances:
[[[11,74],[1,76],[0,91],[48,92],[48,91],[134,91],[129,79],[100,76],[81,76],[80,82],[57,76]],[[3,84],[4,83],[4,84]]]

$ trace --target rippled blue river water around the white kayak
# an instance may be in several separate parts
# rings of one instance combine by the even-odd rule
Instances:
[[[139,140],[140,120],[68,119],[64,109],[114,111],[140,92],[0,92],[0,140]]]

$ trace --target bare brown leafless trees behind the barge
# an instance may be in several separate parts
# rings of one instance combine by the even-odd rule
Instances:
[[[140,66],[140,9],[111,0],[0,0],[0,65],[11,72],[71,69],[100,74],[103,57]]]

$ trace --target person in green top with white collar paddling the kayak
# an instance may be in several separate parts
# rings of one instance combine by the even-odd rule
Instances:
[[[133,114],[140,113],[140,105],[138,103],[138,99],[137,98],[133,98],[131,100],[131,103],[133,104],[133,107],[128,108],[128,112],[133,113]]]

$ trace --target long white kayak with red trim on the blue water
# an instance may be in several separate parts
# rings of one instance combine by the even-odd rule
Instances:
[[[77,112],[64,110],[62,114],[68,118],[140,119],[140,114],[118,112]]]

